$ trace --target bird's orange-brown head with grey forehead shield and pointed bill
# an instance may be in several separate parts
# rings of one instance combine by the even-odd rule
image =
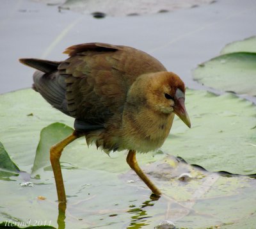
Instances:
[[[178,75],[173,72],[145,74],[134,84],[137,96],[143,97],[147,106],[156,112],[175,113],[189,128],[191,127],[184,104],[185,85]]]

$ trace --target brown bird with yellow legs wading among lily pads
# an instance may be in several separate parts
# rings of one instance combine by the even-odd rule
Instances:
[[[63,148],[85,136],[104,152],[127,150],[126,161],[153,194],[161,191],[141,170],[136,152],[160,148],[175,114],[190,128],[182,79],[138,49],[108,43],[68,47],[64,61],[21,58],[35,68],[33,86],[52,107],[74,118],[74,132],[50,149],[59,202],[67,202],[61,174]]]

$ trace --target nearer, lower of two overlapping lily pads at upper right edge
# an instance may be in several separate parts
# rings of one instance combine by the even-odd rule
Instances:
[[[222,91],[256,96],[256,53],[224,54],[198,65],[196,81]]]

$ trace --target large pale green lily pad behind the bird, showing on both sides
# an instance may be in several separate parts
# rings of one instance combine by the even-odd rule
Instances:
[[[162,150],[168,154],[179,155],[189,163],[199,164],[210,171],[256,173],[256,166],[253,163],[256,150],[256,107],[252,102],[240,99],[232,93],[217,96],[195,90],[187,90],[186,102],[192,128],[188,129],[179,118],[175,118],[170,136]],[[13,161],[24,171],[29,171],[34,164],[41,129],[53,122],[62,122],[68,126],[72,126],[74,122],[73,118],[49,106],[33,90],[20,90],[1,95],[0,104],[3,107],[0,111],[0,140],[8,154],[12,155]],[[27,115],[31,113],[33,116]],[[63,127],[61,124],[52,127],[58,129],[58,125],[61,130],[54,131],[56,134],[62,132],[62,136],[53,139],[54,134],[44,134],[45,137],[48,135],[45,142],[49,142],[45,146],[45,154],[50,145],[65,138],[72,131],[70,127]],[[154,153],[138,154],[138,160],[141,159],[144,163],[152,162],[152,155]],[[108,163],[113,159],[117,160],[120,166],[109,168]],[[86,164],[89,168],[102,168],[107,171],[123,172],[129,169],[129,166],[123,163],[125,158],[122,152],[111,153],[108,157],[95,146],[88,148],[84,138],[79,138],[68,145],[63,151],[61,161],[71,168],[83,168]],[[35,170],[36,165],[33,171]]]

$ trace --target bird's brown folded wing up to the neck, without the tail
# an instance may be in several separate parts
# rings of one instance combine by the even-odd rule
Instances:
[[[69,47],[58,70],[66,75],[67,109],[85,122],[105,123],[121,112],[136,78],[166,70],[157,59],[131,47],[86,43]]]

